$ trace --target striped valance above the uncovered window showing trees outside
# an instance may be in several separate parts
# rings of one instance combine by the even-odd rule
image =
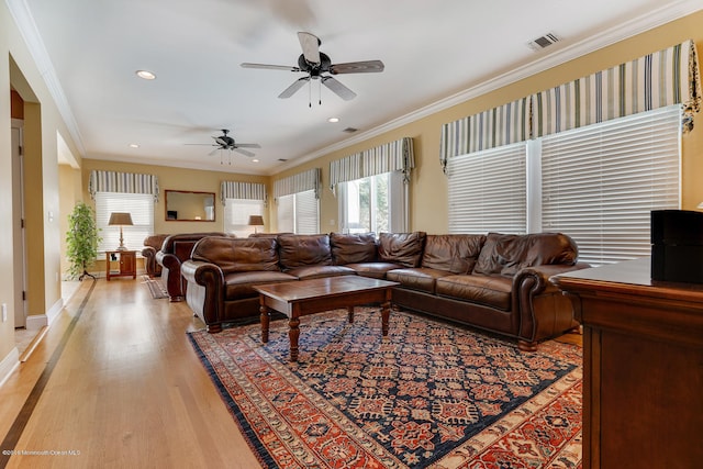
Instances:
[[[415,155],[413,152],[413,139],[403,137],[331,161],[330,188],[334,192],[339,182],[353,181],[391,171],[403,171],[405,182],[410,182],[410,171],[414,167]]]

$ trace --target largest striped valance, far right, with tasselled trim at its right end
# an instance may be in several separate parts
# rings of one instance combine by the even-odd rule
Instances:
[[[684,131],[700,110],[693,41],[533,94],[533,137],[682,104]]]

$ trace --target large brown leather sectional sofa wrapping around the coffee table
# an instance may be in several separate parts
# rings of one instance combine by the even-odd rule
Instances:
[[[181,265],[186,299],[216,333],[256,317],[254,286],[361,275],[398,281],[395,306],[538,342],[578,326],[570,301],[549,277],[589,267],[563,234],[427,235],[414,233],[205,237]]]

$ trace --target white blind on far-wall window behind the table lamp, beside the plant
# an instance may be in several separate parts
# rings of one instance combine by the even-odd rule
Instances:
[[[120,226],[110,226],[112,212],[129,212],[132,226],[122,226],[127,249],[141,250],[144,238],[154,234],[154,196],[150,193],[96,192],[96,225],[102,242],[98,250],[114,250],[120,246]]]

